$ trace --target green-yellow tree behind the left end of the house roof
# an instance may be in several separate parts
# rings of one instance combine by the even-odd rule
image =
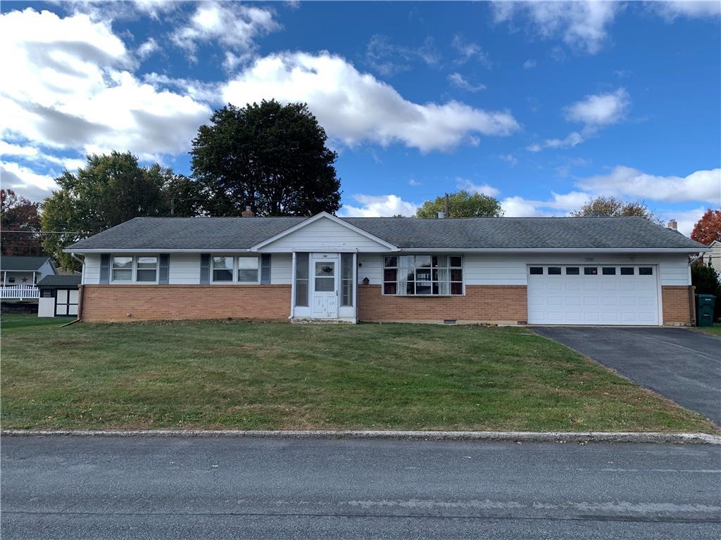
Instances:
[[[157,164],[140,166],[129,152],[88,156],[86,166],[55,181],[59,189],[45,199],[41,217],[43,230],[54,232],[45,235],[43,246],[65,268],[78,266],[63,253],[71,243],[133,217],[170,215],[173,207],[177,215],[195,212],[195,200],[185,199],[197,197],[187,178]]]

